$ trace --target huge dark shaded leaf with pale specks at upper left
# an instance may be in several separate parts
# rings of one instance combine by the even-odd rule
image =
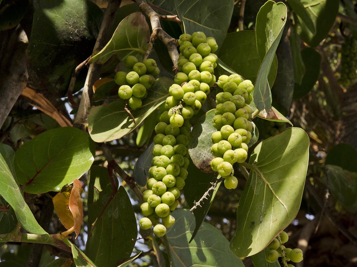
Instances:
[[[89,0],[39,0],[34,7],[29,75],[36,88],[62,96],[75,67],[92,53],[103,12]]]

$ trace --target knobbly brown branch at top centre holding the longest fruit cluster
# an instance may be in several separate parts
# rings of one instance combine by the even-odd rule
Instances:
[[[151,6],[147,4],[146,0],[137,0],[136,3],[139,5],[141,11],[144,12],[144,14],[150,19],[152,32],[155,33],[156,38],[159,38],[165,44],[167,51],[169,52],[170,58],[172,60],[172,63],[174,64],[172,70],[174,71],[174,73],[176,73],[178,71],[177,68],[178,52],[177,52],[177,42],[175,38],[171,37],[169,34],[167,34],[167,32],[162,30],[159,14],[157,14],[151,8]]]

